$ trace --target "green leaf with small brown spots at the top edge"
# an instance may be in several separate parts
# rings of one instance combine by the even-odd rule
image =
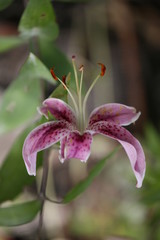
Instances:
[[[58,26],[50,0],[30,0],[22,15],[19,31],[24,36],[53,40],[58,36]]]

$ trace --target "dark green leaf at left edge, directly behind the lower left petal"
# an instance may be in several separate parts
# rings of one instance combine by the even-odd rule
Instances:
[[[35,177],[28,175],[22,158],[24,140],[33,128],[32,126],[32,128],[25,130],[15,141],[0,168],[0,203],[13,200],[26,185],[30,185],[35,181]],[[38,153],[37,168],[42,164],[42,158],[42,152]]]

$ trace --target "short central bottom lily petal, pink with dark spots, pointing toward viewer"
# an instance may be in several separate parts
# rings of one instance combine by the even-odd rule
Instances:
[[[91,152],[92,135],[85,132],[80,135],[79,132],[73,131],[61,141],[60,161],[77,158],[86,162]]]

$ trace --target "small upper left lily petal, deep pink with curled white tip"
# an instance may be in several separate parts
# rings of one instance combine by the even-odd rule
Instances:
[[[39,112],[48,118],[48,111],[57,119],[76,125],[76,116],[68,104],[58,98],[48,98],[39,108]]]

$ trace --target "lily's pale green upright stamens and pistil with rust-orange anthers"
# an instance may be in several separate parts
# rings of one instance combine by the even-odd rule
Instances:
[[[98,76],[93,80],[91,86],[89,87],[87,93],[85,94],[85,97],[82,98],[82,85],[83,85],[83,73],[84,73],[84,66],[81,65],[79,68],[80,72],[80,78],[78,77],[77,67],[75,64],[75,56],[72,57],[72,65],[74,70],[74,76],[75,76],[75,83],[76,83],[76,97],[73,96],[72,92],[70,91],[69,87],[67,86],[66,76],[62,77],[62,80],[58,78],[54,72],[54,68],[51,68],[50,72],[52,74],[52,77],[57,81],[59,81],[66,91],[68,92],[74,106],[76,118],[77,118],[77,127],[81,134],[83,134],[85,128],[86,128],[86,103],[88,100],[88,97],[90,95],[91,90],[93,89],[94,85],[98,81],[100,77],[103,77],[106,71],[106,67],[102,63],[98,63],[101,66],[101,72],[98,74]]]

